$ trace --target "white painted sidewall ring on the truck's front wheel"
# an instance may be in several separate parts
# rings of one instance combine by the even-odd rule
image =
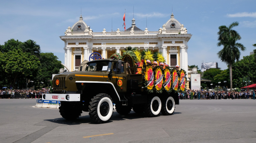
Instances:
[[[101,107],[101,104],[103,102],[107,102],[108,105],[109,105],[109,112],[108,112],[108,115],[107,116],[102,116],[101,115],[101,112],[99,110],[99,108]],[[99,101],[99,104],[98,104],[98,107],[97,107],[97,112],[98,112],[98,116],[99,118],[102,120],[102,121],[108,121],[110,119],[110,117],[112,116],[112,113],[113,113],[113,103],[112,101],[110,100],[110,98],[108,97],[104,97],[102,98],[100,101]]]

